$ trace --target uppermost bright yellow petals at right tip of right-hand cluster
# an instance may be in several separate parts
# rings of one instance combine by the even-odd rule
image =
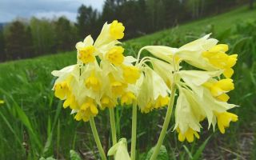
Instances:
[[[203,52],[202,56],[207,58],[213,66],[224,70],[223,74],[225,77],[230,78],[234,74],[234,70],[231,67],[237,62],[238,54],[228,55],[226,54],[227,50],[227,45],[218,44],[210,50]]]

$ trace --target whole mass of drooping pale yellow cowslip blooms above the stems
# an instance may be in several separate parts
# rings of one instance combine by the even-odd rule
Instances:
[[[193,142],[199,138],[201,122],[209,127],[216,124],[222,134],[238,116],[228,110],[236,105],[228,103],[232,67],[237,54],[226,54],[228,46],[206,35],[180,48],[144,46],[138,58],[124,56],[118,40],[124,37],[121,22],[105,23],[94,41],[87,36],[76,44],[77,63],[62,70],[54,70],[58,77],[54,94],[64,100],[78,121],[89,121],[98,109],[113,108],[118,103],[138,105],[142,113],[168,106],[170,97],[178,90],[175,107],[175,126],[178,140]],[[142,50],[153,57],[139,59]],[[186,62],[193,70],[185,70]],[[169,106],[172,104],[169,104]]]

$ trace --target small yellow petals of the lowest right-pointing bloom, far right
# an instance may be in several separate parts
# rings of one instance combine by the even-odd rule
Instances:
[[[230,126],[230,122],[237,122],[238,116],[229,112],[216,113],[218,121],[218,129],[225,134],[225,128]]]

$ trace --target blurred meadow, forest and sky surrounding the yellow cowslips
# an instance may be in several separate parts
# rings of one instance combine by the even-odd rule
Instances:
[[[162,160],[256,159],[255,8],[254,0],[0,0],[0,159],[99,158],[89,123],[75,122],[54,98],[50,72],[76,63],[76,42],[97,38],[115,19],[126,26],[126,55],[146,45],[179,47],[210,33],[238,54],[230,102],[240,106],[232,110],[239,121],[226,134],[206,130],[204,122],[199,140],[182,143],[173,118]],[[147,159],[165,113],[138,114],[138,160]],[[131,109],[117,107],[115,114],[118,138],[126,137],[130,148]],[[95,121],[107,151],[107,110]]]

